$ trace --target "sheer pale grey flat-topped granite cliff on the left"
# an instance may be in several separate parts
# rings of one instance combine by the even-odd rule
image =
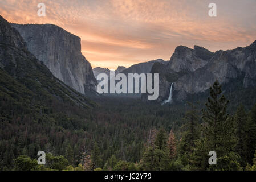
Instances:
[[[96,89],[91,64],[81,53],[80,38],[53,24],[11,24],[29,51],[52,74],[80,93]]]

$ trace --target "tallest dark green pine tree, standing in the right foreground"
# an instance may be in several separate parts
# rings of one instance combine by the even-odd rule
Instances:
[[[236,162],[238,155],[234,153],[237,143],[234,119],[226,113],[229,101],[224,95],[220,96],[221,93],[221,85],[216,80],[210,88],[206,109],[202,110],[202,119],[205,123],[203,129],[205,152],[201,155],[208,155],[209,151],[217,153],[217,165],[211,165],[210,169],[229,170],[231,166],[232,169],[237,169],[239,165]]]

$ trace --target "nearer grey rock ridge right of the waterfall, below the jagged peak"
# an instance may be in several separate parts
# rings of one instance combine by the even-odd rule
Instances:
[[[216,51],[205,67],[178,78],[175,89],[178,93],[204,92],[217,79],[228,83],[232,79],[242,78],[241,87],[256,86],[256,49],[255,43],[245,48]],[[184,94],[185,95],[185,94]]]

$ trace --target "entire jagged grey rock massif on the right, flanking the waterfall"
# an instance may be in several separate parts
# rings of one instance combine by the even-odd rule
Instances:
[[[199,54],[193,53],[196,49],[200,50]],[[198,60],[202,60],[200,67],[185,64],[193,61],[196,63]],[[153,65],[151,73],[160,74],[158,101],[161,102],[169,96],[172,82],[174,82],[174,99],[177,101],[184,101],[188,94],[205,92],[216,79],[221,83],[227,83],[231,79],[243,77],[241,85],[243,88],[256,86],[255,70],[256,41],[243,48],[218,50],[214,53],[199,46],[194,46],[194,49],[178,46],[168,63],[168,68],[156,64]],[[141,99],[145,101],[144,96]]]

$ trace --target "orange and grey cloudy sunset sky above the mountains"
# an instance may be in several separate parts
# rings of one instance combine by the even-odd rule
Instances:
[[[38,3],[46,5],[46,16],[38,16]],[[209,3],[216,3],[216,17],[208,15]],[[256,0],[0,0],[0,15],[79,36],[92,68],[170,60],[180,45],[215,52],[256,40]]]

